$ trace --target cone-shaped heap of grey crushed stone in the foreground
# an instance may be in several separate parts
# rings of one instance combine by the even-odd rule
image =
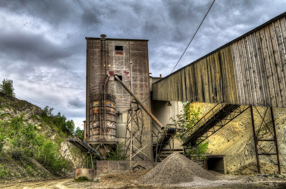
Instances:
[[[217,177],[204,170],[182,154],[174,152],[161,163],[137,180],[138,184],[177,184],[192,182],[194,178],[217,180]]]

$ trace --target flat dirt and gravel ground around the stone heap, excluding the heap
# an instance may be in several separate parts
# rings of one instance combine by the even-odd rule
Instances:
[[[109,189],[109,188],[151,188],[151,189],[187,189],[187,188],[286,188],[286,181],[282,178],[265,176],[234,176],[222,175],[220,180],[194,180],[190,183],[174,185],[139,185],[136,183],[138,177],[146,174],[107,174],[104,177],[95,179],[93,182],[75,182],[74,177],[57,178],[46,180],[0,180],[0,188],[7,189]]]

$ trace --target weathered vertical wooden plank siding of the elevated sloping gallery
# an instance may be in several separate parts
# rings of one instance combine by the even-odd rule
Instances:
[[[285,16],[157,81],[153,100],[286,108]]]

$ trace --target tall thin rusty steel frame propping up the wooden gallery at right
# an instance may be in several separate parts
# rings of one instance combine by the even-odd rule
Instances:
[[[253,129],[253,136],[254,136],[254,144],[255,144],[255,152],[256,152],[256,160],[257,160],[257,169],[258,169],[258,173],[260,174],[260,164],[259,164],[259,156],[260,155],[277,155],[277,163],[278,163],[278,172],[279,174],[281,174],[281,168],[280,168],[280,160],[279,160],[279,151],[278,151],[278,145],[277,145],[277,136],[276,136],[276,128],[275,128],[275,120],[274,120],[274,114],[273,114],[273,108],[272,107],[267,107],[264,116],[262,116],[259,112],[259,110],[257,110],[259,116],[262,118],[262,122],[260,124],[259,130],[256,134],[255,131],[255,123],[254,123],[254,115],[253,115],[253,107],[255,107],[255,109],[257,110],[256,106],[251,106],[250,110],[251,110],[251,121],[252,121],[252,129]],[[270,108],[270,112],[271,112],[271,119],[272,119],[272,126],[273,126],[273,133],[271,132],[268,124],[265,122],[265,115],[267,114],[267,110],[268,108]],[[267,140],[267,139],[258,139],[258,134],[261,130],[261,126],[263,124],[263,122],[265,123],[265,125],[267,126],[268,130],[270,131],[271,135],[273,136],[273,140]],[[274,142],[274,145],[272,146],[272,148],[267,152],[265,151],[265,149],[263,149],[263,147],[261,147],[258,142]],[[259,154],[258,153],[258,147],[265,153]],[[275,146],[276,148],[276,153],[269,153],[273,147]]]

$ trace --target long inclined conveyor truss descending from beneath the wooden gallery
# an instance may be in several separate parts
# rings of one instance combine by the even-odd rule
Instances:
[[[200,144],[249,107],[226,104],[225,102],[217,103],[205,116],[180,136],[184,141],[182,146]]]

